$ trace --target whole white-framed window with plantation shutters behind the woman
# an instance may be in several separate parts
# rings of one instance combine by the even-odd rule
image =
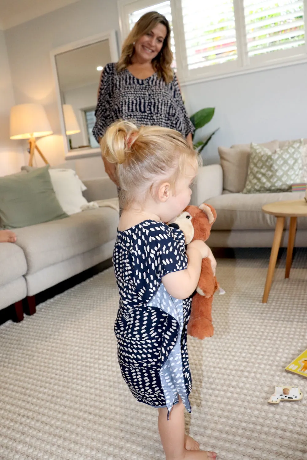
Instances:
[[[307,0],[118,0],[122,38],[147,11],[167,17],[182,82],[307,61],[304,3],[307,6]]]

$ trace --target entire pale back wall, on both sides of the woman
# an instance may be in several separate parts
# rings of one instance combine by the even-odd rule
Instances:
[[[41,102],[54,136],[38,141],[52,165],[63,163],[58,106],[49,52],[52,48],[110,29],[119,30],[114,0],[80,0],[5,31],[16,104]],[[183,87],[188,112],[215,107],[203,133],[216,133],[205,149],[218,161],[218,145],[307,137],[307,64],[266,70]],[[82,178],[104,173],[97,158],[76,160]]]

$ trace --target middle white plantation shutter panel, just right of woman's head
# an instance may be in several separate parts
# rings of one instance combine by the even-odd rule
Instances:
[[[188,69],[237,59],[232,0],[181,0]]]

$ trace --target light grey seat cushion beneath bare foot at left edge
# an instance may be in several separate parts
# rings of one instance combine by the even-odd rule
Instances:
[[[0,243],[0,286],[17,280],[26,272],[23,250],[15,243]]]

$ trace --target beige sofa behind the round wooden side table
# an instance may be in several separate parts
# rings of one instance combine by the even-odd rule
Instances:
[[[284,146],[284,142],[274,142],[281,148]],[[274,143],[269,144],[274,147]],[[219,149],[220,165],[201,168],[193,190],[193,204],[205,201],[217,212],[208,244],[211,247],[272,247],[276,219],[264,214],[262,206],[274,201],[303,199],[305,192],[243,194],[249,164],[249,145],[237,145],[231,149],[224,149],[224,156],[223,150]],[[238,151],[241,156],[235,158]],[[287,246],[288,228],[289,221],[286,219],[282,247]],[[307,247],[307,218],[297,221],[295,247]]]

